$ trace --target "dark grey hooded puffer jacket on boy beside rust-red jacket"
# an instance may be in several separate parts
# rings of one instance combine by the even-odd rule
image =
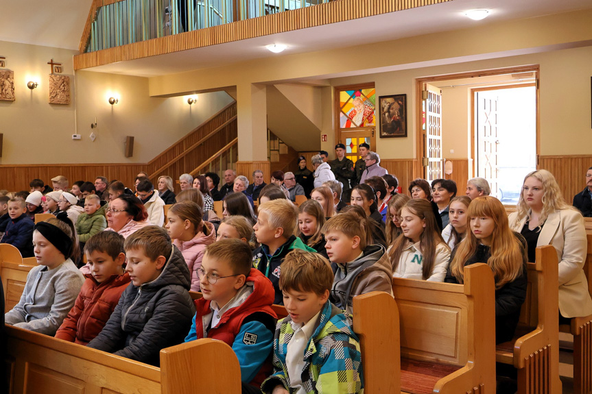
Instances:
[[[88,347],[152,365],[159,352],[183,342],[196,313],[189,295],[191,274],[172,246],[161,275],[137,287],[130,284],[101,333]]]

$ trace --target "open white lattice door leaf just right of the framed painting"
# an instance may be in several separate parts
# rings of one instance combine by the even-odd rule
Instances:
[[[442,91],[425,84],[423,90],[423,177],[431,182],[444,175],[442,160]]]

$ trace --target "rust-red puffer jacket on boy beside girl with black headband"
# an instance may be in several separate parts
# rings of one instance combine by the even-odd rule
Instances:
[[[73,308],[56,332],[56,338],[86,345],[101,332],[130,284],[130,275],[111,275],[102,283],[86,274]]]

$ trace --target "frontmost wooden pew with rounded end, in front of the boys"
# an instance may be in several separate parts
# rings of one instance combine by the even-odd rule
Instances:
[[[161,368],[6,326],[10,393],[240,393],[239,362],[205,338],[161,350]],[[222,378],[223,377],[223,378]]]

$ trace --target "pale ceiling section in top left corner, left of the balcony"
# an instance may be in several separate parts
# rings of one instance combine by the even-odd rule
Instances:
[[[76,49],[93,0],[0,0],[0,41]]]

